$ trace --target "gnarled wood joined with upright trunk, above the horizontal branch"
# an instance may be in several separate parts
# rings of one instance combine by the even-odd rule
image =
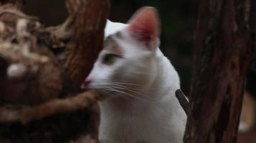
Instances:
[[[0,85],[4,87],[0,89],[3,93],[0,99],[4,102],[37,104],[60,94],[66,96],[81,92],[81,83],[102,49],[109,1],[66,2],[70,17],[61,26],[51,28],[55,29],[53,31],[40,26],[37,19],[23,14],[14,6],[1,6],[0,24],[3,28],[0,31],[0,41],[4,42],[0,44],[0,57],[9,65],[1,71],[17,74],[14,69],[22,69],[18,73],[19,78],[4,77],[0,81]],[[18,46],[22,49],[17,48]],[[52,54],[50,50],[56,47],[65,48],[65,60]],[[47,60],[42,63],[37,62],[37,59]],[[37,87],[31,89],[31,84]],[[64,92],[61,91],[62,88],[65,89]]]

